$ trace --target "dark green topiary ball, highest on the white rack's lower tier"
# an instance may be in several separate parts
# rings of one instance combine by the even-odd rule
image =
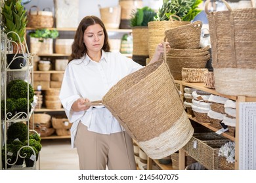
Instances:
[[[28,126],[22,122],[14,122],[7,129],[7,143],[11,144],[14,139],[26,141],[28,137]]]

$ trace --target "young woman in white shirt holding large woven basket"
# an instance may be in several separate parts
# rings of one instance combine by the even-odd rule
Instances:
[[[169,42],[165,43],[169,50]],[[153,63],[160,59],[163,44],[158,44]],[[91,107],[121,78],[141,65],[120,53],[110,52],[108,34],[96,16],[81,20],[66,67],[60,101],[71,123],[72,147],[77,148],[80,169],[136,169],[133,141],[104,106]]]

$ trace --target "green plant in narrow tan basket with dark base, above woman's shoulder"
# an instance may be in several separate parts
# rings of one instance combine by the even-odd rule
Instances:
[[[146,58],[148,58],[148,22],[154,21],[154,16],[156,16],[156,12],[149,7],[137,8],[131,14],[133,60],[140,65],[146,65]]]

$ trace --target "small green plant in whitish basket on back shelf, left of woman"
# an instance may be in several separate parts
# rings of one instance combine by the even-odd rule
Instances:
[[[36,29],[28,33],[30,52],[33,54],[53,54],[53,39],[58,37],[56,29]]]

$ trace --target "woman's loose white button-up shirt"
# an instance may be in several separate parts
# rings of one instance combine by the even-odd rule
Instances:
[[[123,131],[123,127],[104,106],[90,107],[86,111],[74,112],[72,105],[80,97],[90,101],[100,101],[121,78],[140,68],[142,65],[120,53],[104,52],[103,50],[102,57],[98,62],[86,55],[68,63],[59,97],[68,120],[73,123],[70,131],[72,147],[74,147],[79,121],[86,125],[89,131],[96,133],[110,134]]]

